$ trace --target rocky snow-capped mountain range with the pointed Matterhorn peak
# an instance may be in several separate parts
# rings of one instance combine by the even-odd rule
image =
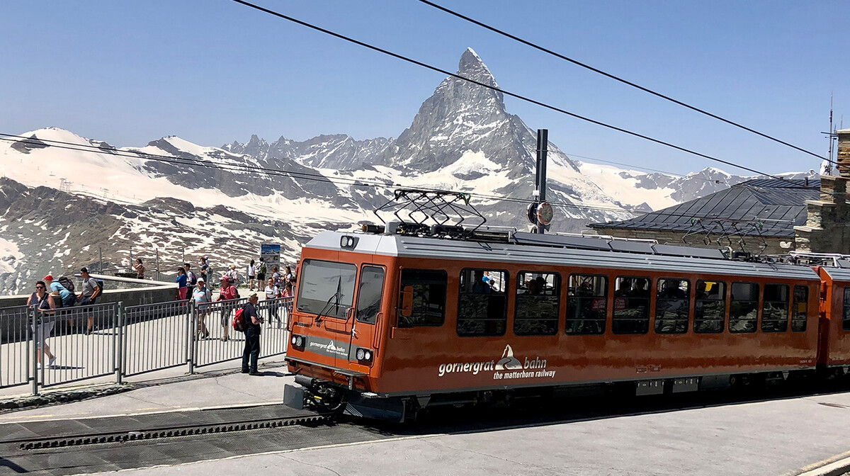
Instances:
[[[457,73],[496,86],[472,49]],[[126,270],[131,255],[161,269],[201,254],[241,267],[259,244],[295,259],[320,229],[376,221],[394,188],[433,188],[530,199],[536,133],[509,114],[502,94],[448,77],[396,139],[343,134],[306,141],[254,135],[245,144],[178,137],[115,147],[60,128],[0,140],[0,292],[48,272],[96,263]],[[553,231],[631,218],[744,180],[707,168],[676,177],[573,161],[548,148]],[[488,224],[525,228],[525,203],[475,197]],[[149,269],[152,269],[149,267]]]

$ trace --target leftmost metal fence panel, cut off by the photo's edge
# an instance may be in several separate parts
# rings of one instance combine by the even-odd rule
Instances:
[[[0,388],[24,385],[31,379],[30,308],[0,308]]]

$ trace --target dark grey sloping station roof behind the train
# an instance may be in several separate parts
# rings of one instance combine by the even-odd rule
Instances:
[[[637,218],[590,224],[593,229],[649,229],[734,235],[794,236],[806,223],[805,201],[820,196],[820,180],[755,178],[726,190],[649,212]],[[761,228],[761,233],[757,227]],[[739,231],[740,230],[740,231]]]

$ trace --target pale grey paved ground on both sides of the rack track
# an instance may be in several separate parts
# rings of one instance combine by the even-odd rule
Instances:
[[[285,367],[267,365],[263,370],[263,377],[221,371],[213,377],[161,382],[100,399],[7,412],[0,414],[0,422],[31,422],[31,428],[38,422],[49,433],[52,427],[59,432],[75,424],[64,418],[138,419],[139,414],[162,411],[179,411],[185,418],[186,411],[196,408],[279,404],[283,383],[292,377],[286,376]],[[178,414],[159,417],[170,415],[176,419]],[[619,415],[575,408],[567,415],[523,422],[513,410],[500,410],[486,424],[458,413],[456,423],[448,419],[432,427],[343,422],[181,437],[156,445],[98,445],[78,454],[65,451],[61,457],[43,450],[16,460],[23,464],[0,455],[0,474],[38,473],[37,468],[50,467],[45,473],[122,470],[144,476],[786,476],[804,473],[850,450],[850,393]],[[118,418],[120,422],[122,417]],[[0,434],[10,428],[0,426]]]

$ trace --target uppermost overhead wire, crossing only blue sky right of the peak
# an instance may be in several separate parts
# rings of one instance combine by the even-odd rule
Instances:
[[[661,93],[659,93],[659,92],[657,92],[657,91],[655,91],[655,90],[653,90],[653,89],[645,88],[645,87],[643,87],[643,86],[641,86],[641,85],[639,85],[639,84],[637,84],[637,83],[635,83],[635,82],[631,82],[631,81],[628,81],[628,80],[626,80],[626,79],[624,79],[624,78],[622,78],[622,77],[618,77],[618,76],[616,76],[616,75],[614,75],[614,74],[611,74],[611,73],[609,73],[609,72],[602,71],[602,70],[600,70],[600,69],[598,69],[598,68],[595,68],[595,67],[593,67],[593,66],[591,66],[591,65],[587,65],[586,63],[582,63],[581,61],[578,61],[577,59],[572,59],[572,58],[570,58],[570,57],[568,57],[568,56],[565,56],[564,54],[559,54],[558,52],[555,52],[555,51],[553,51],[553,50],[551,50],[551,49],[549,49],[549,48],[544,48],[544,47],[542,47],[542,46],[540,46],[540,45],[538,45],[538,44],[536,44],[536,43],[534,43],[534,42],[530,42],[530,41],[528,41],[528,40],[524,40],[523,38],[520,38],[520,37],[517,37],[517,36],[515,36],[515,35],[512,35],[511,33],[508,33],[507,31],[500,30],[500,29],[498,29],[498,28],[496,28],[496,27],[494,27],[494,26],[490,26],[490,25],[485,24],[484,22],[481,22],[481,21],[479,21],[479,20],[475,20],[475,19],[473,19],[473,18],[470,18],[470,17],[468,17],[467,15],[460,14],[460,13],[458,13],[458,12],[454,11],[454,10],[451,10],[450,8],[445,8],[444,6],[439,5],[439,4],[437,4],[437,3],[430,2],[429,0],[418,0],[418,1],[419,1],[419,2],[421,2],[421,3],[425,3],[426,5],[430,5],[430,6],[431,6],[431,7],[433,7],[433,8],[437,8],[437,9],[439,9],[439,10],[442,10],[442,11],[444,11],[444,12],[445,12],[445,13],[447,13],[447,14],[454,15],[454,16],[456,16],[457,18],[460,18],[460,19],[462,19],[462,20],[466,20],[466,21],[468,21],[469,23],[473,23],[473,24],[475,24],[475,25],[477,25],[477,26],[480,26],[480,27],[482,27],[482,28],[484,28],[484,29],[487,29],[487,30],[493,31],[493,32],[495,32],[495,33],[498,33],[499,35],[501,35],[501,36],[503,36],[503,37],[508,37],[508,38],[510,38],[510,39],[512,39],[512,40],[514,40],[514,41],[521,42],[521,43],[523,43],[524,45],[526,45],[526,46],[530,46],[531,48],[535,48],[535,49],[537,49],[537,50],[540,50],[540,51],[542,51],[543,53],[550,54],[550,55],[552,55],[552,56],[554,56],[554,57],[556,57],[556,58],[559,58],[559,59],[564,59],[565,61],[569,61],[570,63],[572,63],[572,64],[574,64],[574,65],[581,66],[582,68],[585,68],[585,69],[587,69],[587,70],[590,70],[590,71],[593,71],[593,72],[595,72],[595,73],[598,73],[598,74],[600,74],[600,75],[602,75],[602,76],[604,76],[604,77],[609,77],[610,79],[613,79],[614,81],[621,82],[621,83],[623,83],[623,84],[626,84],[626,85],[628,85],[628,86],[631,86],[632,88],[640,89],[640,90],[641,90],[641,91],[643,91],[644,93],[652,94],[652,95],[654,95],[654,96],[656,96],[656,97],[659,97],[659,98],[661,98],[661,99],[666,99],[667,101],[670,101],[670,102],[672,102],[672,103],[674,103],[674,104],[677,104],[677,105],[681,105],[681,106],[683,106],[683,107],[686,107],[686,108],[688,108],[688,109],[689,109],[689,110],[691,110],[691,111],[696,111],[696,112],[699,112],[700,114],[704,114],[704,115],[706,115],[706,116],[709,116],[709,117],[712,117],[712,118],[714,118],[714,119],[717,119],[718,121],[726,122],[727,124],[729,124],[729,125],[731,125],[731,126],[739,127],[739,128],[741,128],[741,129],[744,129],[744,130],[745,130],[745,131],[747,131],[747,132],[757,134],[757,135],[759,135],[759,136],[761,136],[761,137],[763,137],[763,138],[765,138],[765,139],[773,140],[774,142],[777,142],[777,143],[779,143],[779,144],[783,144],[783,145],[786,145],[786,146],[788,146],[788,147],[791,147],[791,149],[799,150],[799,151],[801,151],[801,152],[803,152],[803,153],[806,153],[806,154],[808,154],[808,155],[810,155],[810,156],[818,157],[818,158],[819,158],[819,159],[821,159],[821,160],[828,160],[828,161],[831,161],[831,160],[830,160],[830,158],[825,159],[823,156],[820,156],[819,154],[817,154],[817,153],[815,153],[815,152],[812,152],[811,150],[803,149],[802,147],[798,147],[798,146],[796,146],[796,145],[794,145],[794,144],[790,144],[790,143],[788,143],[788,142],[785,142],[785,140],[778,139],[778,138],[776,138],[776,137],[774,137],[774,136],[772,136],[772,135],[768,135],[768,134],[766,134],[766,133],[761,133],[761,132],[757,131],[756,129],[753,129],[753,128],[751,128],[751,127],[746,127],[745,125],[740,124],[739,122],[731,121],[731,120],[729,120],[729,119],[726,119],[726,118],[725,118],[725,117],[723,117],[723,116],[717,116],[717,114],[712,114],[712,113],[711,113],[711,112],[709,112],[709,111],[706,111],[706,110],[700,109],[700,108],[698,108],[698,107],[696,107],[696,106],[693,106],[693,105],[689,105],[689,104],[687,104],[687,103],[685,103],[685,102],[683,102],[683,101],[680,101],[680,100],[678,100],[678,99],[674,99],[674,98],[672,98],[672,97],[670,97],[670,96],[667,96],[666,94],[661,94]]]

